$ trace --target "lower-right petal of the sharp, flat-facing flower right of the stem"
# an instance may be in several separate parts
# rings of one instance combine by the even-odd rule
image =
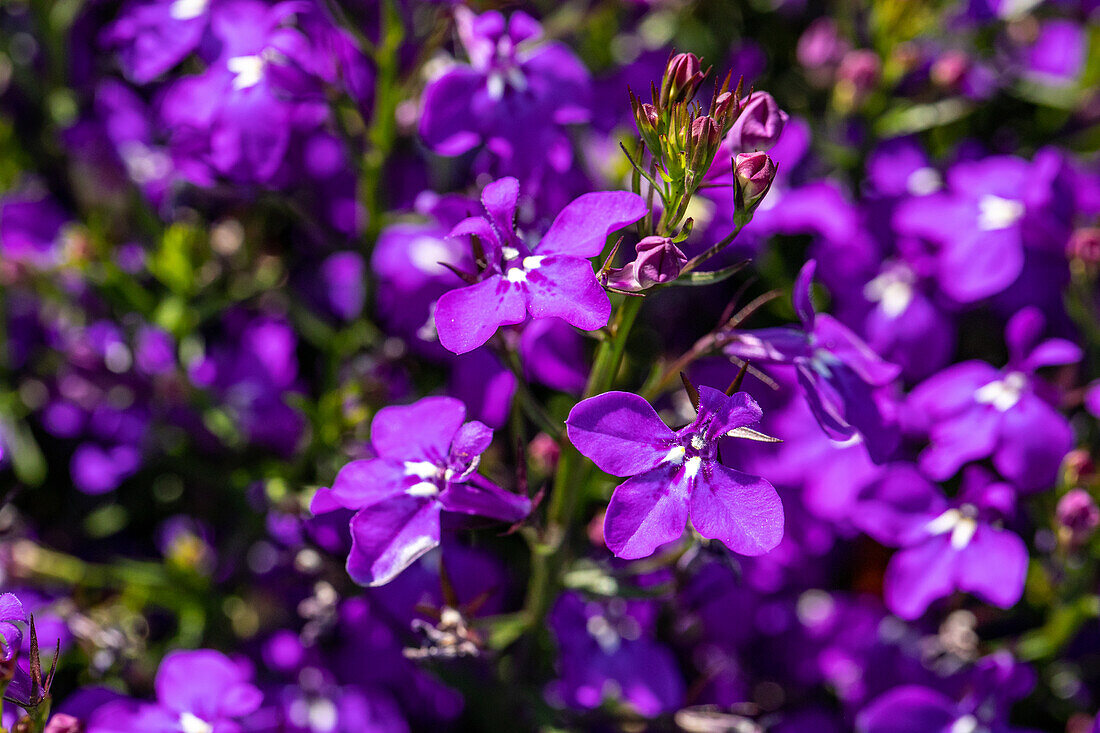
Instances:
[[[698,534],[739,555],[763,555],[783,538],[783,503],[776,489],[717,461],[700,469],[691,492],[691,521]]]

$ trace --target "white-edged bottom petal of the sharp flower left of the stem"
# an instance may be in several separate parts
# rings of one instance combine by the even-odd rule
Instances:
[[[397,496],[360,510],[351,519],[348,575],[360,586],[383,586],[439,545],[440,503]]]

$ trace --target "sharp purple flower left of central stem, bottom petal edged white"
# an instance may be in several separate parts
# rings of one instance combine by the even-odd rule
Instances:
[[[463,424],[465,416],[465,406],[453,397],[382,408],[371,424],[378,458],[348,463],[332,488],[314,497],[315,513],[356,510],[348,556],[352,580],[387,583],[439,545],[444,510],[504,522],[530,512],[526,496],[476,473],[493,431],[475,420]]]

